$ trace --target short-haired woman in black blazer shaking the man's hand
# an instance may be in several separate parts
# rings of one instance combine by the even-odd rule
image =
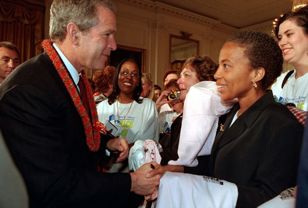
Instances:
[[[256,207],[296,184],[302,125],[268,89],[282,70],[276,41],[261,32],[238,32],[220,51],[215,74],[222,100],[239,103],[220,124],[209,159],[198,167],[165,167],[213,176],[237,186],[237,207]],[[204,204],[206,206],[206,204]]]

